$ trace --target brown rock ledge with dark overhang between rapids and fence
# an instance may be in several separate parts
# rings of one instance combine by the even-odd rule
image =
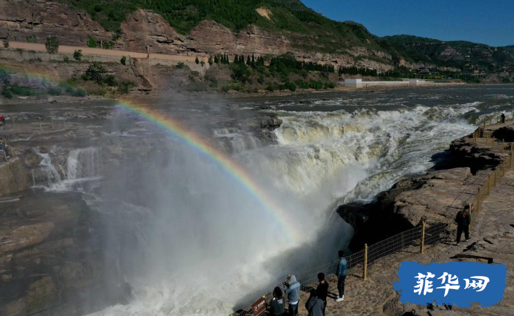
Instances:
[[[514,124],[482,127],[481,132],[514,137]],[[475,198],[484,175],[502,163],[510,144],[486,139],[473,141],[473,135],[455,139],[445,152],[433,155],[435,165],[425,175],[405,177],[368,204],[339,206],[337,213],[352,224],[356,234],[350,248],[373,244],[427,221],[452,222],[455,213]]]

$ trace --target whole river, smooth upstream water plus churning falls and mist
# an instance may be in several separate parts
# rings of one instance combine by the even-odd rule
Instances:
[[[370,200],[399,177],[427,170],[435,153],[487,115],[513,115],[514,87],[163,98],[151,106],[221,148],[260,193],[180,137],[111,103],[99,106],[111,115],[95,144],[129,139],[123,165],[99,161],[87,144],[70,152],[65,172],[47,170],[53,179],[38,184],[62,192],[77,190],[70,183],[81,179],[97,181],[78,188],[113,219],[107,268],[131,285],[133,297],[92,315],[228,315],[287,273],[336,259],[353,233],[336,206]],[[54,110],[59,117],[62,110]],[[269,116],[283,120],[273,140],[241,124]],[[146,137],[158,137],[160,146],[141,159]],[[45,158],[41,164],[51,168]]]

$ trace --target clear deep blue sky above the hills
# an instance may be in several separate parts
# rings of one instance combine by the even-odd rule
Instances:
[[[379,36],[514,45],[514,0],[301,0],[336,21],[356,21]]]

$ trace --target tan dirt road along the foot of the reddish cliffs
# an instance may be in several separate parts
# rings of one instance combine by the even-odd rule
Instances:
[[[46,47],[44,44],[37,43],[24,43],[20,41],[11,41],[9,43],[9,48],[20,48],[22,50],[35,50],[37,52],[46,52]],[[150,54],[150,57],[143,52],[128,52],[126,50],[104,50],[102,48],[89,48],[82,46],[59,46],[60,54],[73,54],[75,50],[82,50],[82,54],[84,55],[97,55],[97,56],[109,56],[109,57],[122,57],[122,56],[130,56],[133,58],[150,58],[150,59],[158,59],[158,60],[166,60],[166,61],[188,61],[194,62],[196,57],[198,59],[207,62],[207,57],[202,57],[200,55],[193,56],[183,56],[183,55],[164,55],[164,54]]]

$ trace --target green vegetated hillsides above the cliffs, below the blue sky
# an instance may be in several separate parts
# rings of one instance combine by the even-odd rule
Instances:
[[[359,23],[338,22],[298,0],[61,0],[86,10],[106,30],[119,30],[128,14],[144,8],[157,12],[181,34],[213,20],[238,32],[250,25],[278,34],[304,34],[294,46],[310,52],[353,55],[365,50],[368,60],[394,67],[426,63],[432,68],[494,72],[514,68],[514,46],[493,48],[467,41],[439,41],[410,35],[377,37]],[[269,14],[260,14],[263,8]],[[261,10],[262,12],[262,10]],[[298,38],[298,37],[296,37]]]

